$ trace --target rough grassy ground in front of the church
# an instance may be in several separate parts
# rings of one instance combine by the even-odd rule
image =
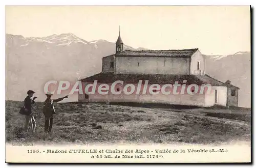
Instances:
[[[6,101],[6,141],[34,143],[229,143],[250,141],[250,122],[207,116],[203,109],[172,110],[106,104],[57,103],[53,134],[45,139],[42,103],[36,132],[23,133],[22,102]],[[206,109],[205,109],[206,110]]]

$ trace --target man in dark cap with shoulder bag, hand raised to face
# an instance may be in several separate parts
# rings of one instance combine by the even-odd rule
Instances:
[[[35,93],[34,91],[29,90],[27,92],[28,96],[24,100],[24,106],[25,106],[25,112],[26,112],[26,114],[25,114],[26,121],[25,121],[25,127],[24,127],[25,131],[28,131],[29,122],[31,122],[33,132],[34,132],[35,126],[36,126],[35,118],[33,116],[32,110],[31,110],[31,105],[35,103],[34,100],[37,98],[37,97],[34,97],[31,100],[34,93]],[[33,122],[34,122],[34,125],[33,125]]]

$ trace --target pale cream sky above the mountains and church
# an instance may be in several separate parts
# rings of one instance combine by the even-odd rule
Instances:
[[[7,6],[6,33],[73,33],[149,49],[199,48],[204,54],[250,51],[249,6]]]

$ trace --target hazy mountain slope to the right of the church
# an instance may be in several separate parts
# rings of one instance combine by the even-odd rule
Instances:
[[[240,51],[229,55],[205,55],[206,73],[220,81],[230,80],[240,88],[239,105],[251,103],[251,53]]]

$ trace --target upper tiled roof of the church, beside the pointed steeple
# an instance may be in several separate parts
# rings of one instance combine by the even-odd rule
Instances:
[[[117,53],[116,57],[191,57],[197,50],[198,48],[180,50],[124,50]]]

